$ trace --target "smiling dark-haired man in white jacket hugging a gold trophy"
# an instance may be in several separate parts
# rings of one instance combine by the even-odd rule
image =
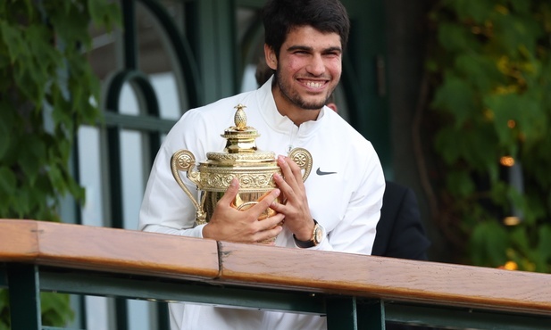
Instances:
[[[341,75],[349,21],[338,0],[269,0],[263,9],[265,61],[275,75],[262,87],[186,112],[171,129],[154,161],[140,210],[139,228],[173,235],[237,243],[370,254],[380,218],[385,179],[372,144],[335,111],[324,106]],[[278,186],[241,211],[230,203],[234,180],[210,221],[196,225],[188,196],[171,177],[171,155],[179,149],[205,161],[220,152],[220,134],[233,123],[234,107],[246,105],[247,125],[260,133],[259,149],[279,154]],[[305,183],[287,156],[295,147],[312,153]],[[186,182],[189,190],[196,187]],[[272,203],[279,195],[287,202]],[[266,208],[277,212],[257,219]],[[281,226],[280,222],[285,220]],[[314,235],[318,234],[318,235]],[[314,237],[315,236],[315,237]],[[173,329],[323,329],[321,316],[262,310],[171,304]]]

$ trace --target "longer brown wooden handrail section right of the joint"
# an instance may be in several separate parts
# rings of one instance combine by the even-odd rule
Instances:
[[[221,281],[551,314],[551,275],[221,243]]]

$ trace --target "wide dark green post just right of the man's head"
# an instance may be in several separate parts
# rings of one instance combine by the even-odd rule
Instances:
[[[341,79],[350,121],[372,142],[385,174],[391,173],[384,0],[342,0],[342,3],[351,21]]]

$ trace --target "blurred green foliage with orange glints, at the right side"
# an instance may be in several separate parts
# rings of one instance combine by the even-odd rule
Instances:
[[[551,2],[442,0],[430,21],[440,207],[469,237],[472,264],[550,272]],[[522,187],[503,157],[522,169]],[[514,209],[522,222],[504,226]]]

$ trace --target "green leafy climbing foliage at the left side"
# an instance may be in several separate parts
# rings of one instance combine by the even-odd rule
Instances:
[[[108,0],[0,2],[0,218],[59,221],[64,194],[83,201],[69,167],[72,144],[79,125],[101,117],[88,29],[119,21]],[[44,325],[72,318],[69,296],[41,296]],[[9,328],[7,301],[0,291],[0,329]]]

